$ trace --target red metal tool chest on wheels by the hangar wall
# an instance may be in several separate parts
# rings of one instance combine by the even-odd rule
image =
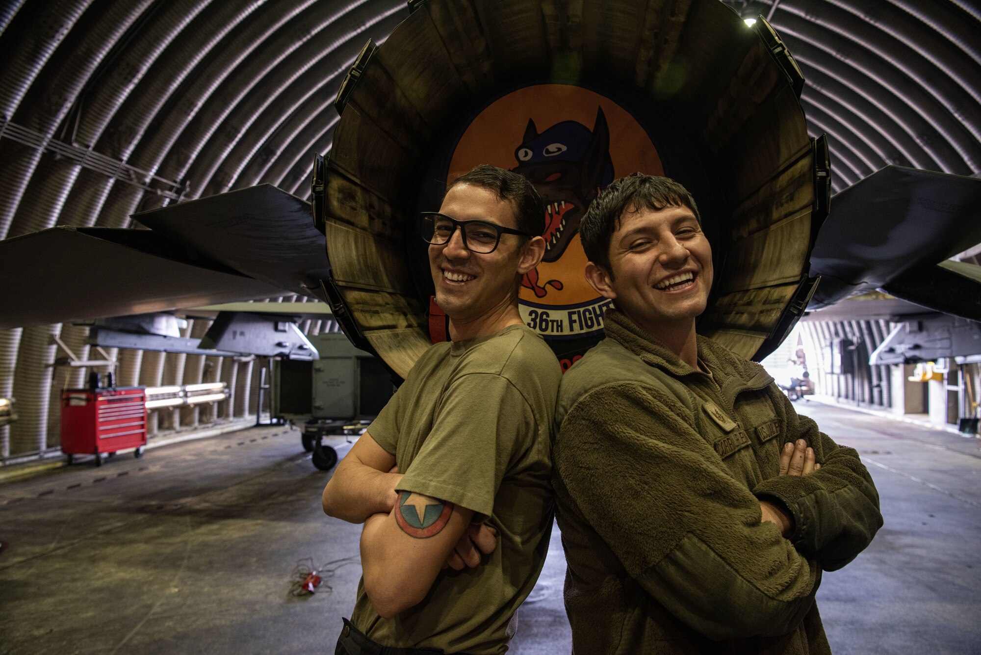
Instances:
[[[142,386],[96,389],[66,389],[62,393],[62,452],[72,463],[73,455],[95,455],[136,448],[143,455],[146,445],[146,393]]]

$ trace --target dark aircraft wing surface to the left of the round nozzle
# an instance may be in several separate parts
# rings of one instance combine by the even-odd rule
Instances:
[[[270,184],[133,218],[151,229],[52,227],[0,241],[0,327],[316,296],[308,287],[327,275],[310,204]]]

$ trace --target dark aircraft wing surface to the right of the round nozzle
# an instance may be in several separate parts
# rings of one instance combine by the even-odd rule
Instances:
[[[888,166],[853,184],[818,231],[810,261],[821,282],[808,310],[882,289],[981,321],[981,269],[947,261],[981,242],[979,208],[981,179],[971,177]]]

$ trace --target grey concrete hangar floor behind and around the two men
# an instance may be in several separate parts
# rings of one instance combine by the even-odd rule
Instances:
[[[979,441],[799,409],[859,450],[886,517],[818,593],[835,653],[981,652]],[[0,655],[333,652],[359,529],[321,512],[328,475],[299,432],[254,428],[0,483]],[[305,558],[333,590],[289,594]],[[556,531],[511,652],[570,651],[564,568]]]

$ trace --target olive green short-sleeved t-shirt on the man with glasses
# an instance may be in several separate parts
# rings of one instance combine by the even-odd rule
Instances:
[[[551,349],[523,325],[438,343],[416,362],[368,433],[395,455],[400,489],[473,510],[497,529],[497,548],[475,569],[440,572],[425,600],[393,619],[375,611],[362,580],[355,628],[386,646],[507,650],[548,550],[559,378]]]

